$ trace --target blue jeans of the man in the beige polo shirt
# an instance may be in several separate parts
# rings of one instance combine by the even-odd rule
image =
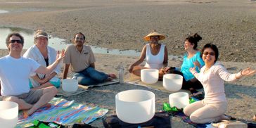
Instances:
[[[94,68],[88,67],[81,72],[76,72],[72,79],[77,79],[78,84],[82,85],[94,85],[105,82],[108,79],[108,75],[104,72],[99,72]]]

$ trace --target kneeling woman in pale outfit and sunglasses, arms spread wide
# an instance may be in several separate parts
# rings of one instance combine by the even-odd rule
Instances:
[[[191,68],[191,73],[203,84],[205,98],[184,108],[184,113],[190,116],[192,122],[203,124],[227,120],[224,115],[227,110],[227,101],[224,91],[224,81],[232,82],[243,76],[254,75],[256,70],[246,68],[241,72],[231,74],[227,72],[223,65],[217,63],[219,51],[214,44],[205,44],[200,56],[202,56],[205,66],[200,73],[195,68]]]

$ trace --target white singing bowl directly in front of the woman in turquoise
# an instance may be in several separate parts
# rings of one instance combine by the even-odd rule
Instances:
[[[162,86],[168,91],[179,91],[182,87],[183,77],[177,74],[164,75]]]

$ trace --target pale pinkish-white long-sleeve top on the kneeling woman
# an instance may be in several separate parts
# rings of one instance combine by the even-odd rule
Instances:
[[[219,63],[212,65],[207,72],[205,72],[205,66],[203,66],[200,73],[195,76],[203,84],[205,103],[226,102],[224,81],[236,80],[236,74],[227,72],[226,68]]]

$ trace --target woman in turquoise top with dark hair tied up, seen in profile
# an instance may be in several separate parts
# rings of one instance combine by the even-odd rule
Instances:
[[[199,34],[193,34],[193,36],[188,36],[185,39],[184,49],[186,54],[183,58],[183,63],[181,65],[181,70],[177,70],[177,68],[164,68],[165,73],[174,73],[183,76],[183,84],[182,89],[188,89],[191,91],[191,94],[196,93],[196,89],[202,89],[203,85],[192,75],[189,71],[190,68],[193,68],[196,64],[196,70],[199,72],[200,68],[205,65],[202,58],[200,57],[200,51],[198,51],[198,41],[200,41],[202,37]]]

